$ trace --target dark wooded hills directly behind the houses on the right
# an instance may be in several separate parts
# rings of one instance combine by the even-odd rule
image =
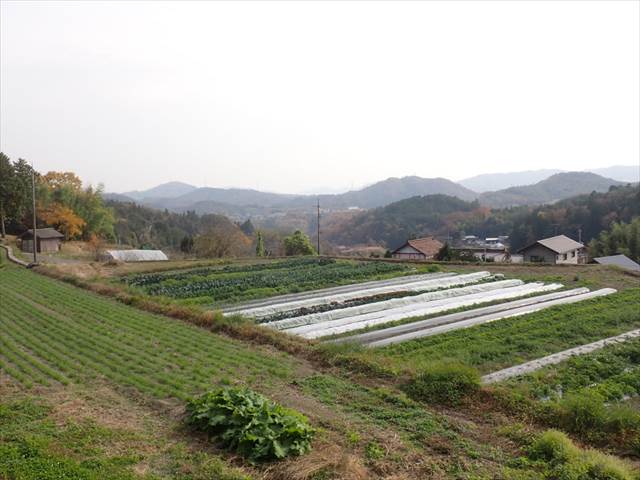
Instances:
[[[489,209],[477,201],[446,195],[413,197],[358,215],[326,220],[325,238],[337,245],[378,244],[388,248],[408,238],[435,235],[510,235],[512,250],[539,238],[565,234],[588,242],[615,221],[640,216],[638,186],[611,187],[608,192],[579,195],[552,205]]]

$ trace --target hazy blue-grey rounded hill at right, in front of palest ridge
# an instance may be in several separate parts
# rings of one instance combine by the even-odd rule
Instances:
[[[511,187],[480,195],[483,205],[494,208],[542,205],[589,192],[606,192],[612,185],[623,185],[611,178],[589,172],[563,172],[533,185]]]

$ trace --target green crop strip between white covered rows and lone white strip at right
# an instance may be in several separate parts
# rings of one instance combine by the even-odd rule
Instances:
[[[629,289],[356,355],[398,371],[455,360],[490,373],[640,328],[639,295]]]

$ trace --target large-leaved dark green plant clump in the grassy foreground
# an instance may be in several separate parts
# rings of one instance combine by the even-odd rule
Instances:
[[[224,387],[190,400],[187,423],[252,463],[307,453],[315,433],[304,415],[247,388]]]

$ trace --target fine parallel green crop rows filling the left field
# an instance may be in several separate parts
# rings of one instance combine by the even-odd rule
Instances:
[[[225,378],[287,378],[293,363],[32,272],[0,271],[0,368],[26,387],[102,377],[187,398]]]

